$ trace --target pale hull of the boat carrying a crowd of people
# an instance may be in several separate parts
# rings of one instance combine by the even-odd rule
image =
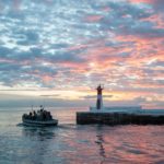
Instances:
[[[23,119],[23,125],[32,126],[32,127],[51,127],[51,126],[57,126],[58,120],[52,119],[52,120],[39,121],[39,120]]]

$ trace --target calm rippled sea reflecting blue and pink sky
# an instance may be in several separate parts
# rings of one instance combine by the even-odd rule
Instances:
[[[59,127],[16,126],[26,110],[0,109],[0,164],[164,164],[164,126],[77,126],[81,108],[50,108]]]

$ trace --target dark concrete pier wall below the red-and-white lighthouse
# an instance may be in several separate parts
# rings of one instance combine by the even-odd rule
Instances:
[[[164,125],[164,115],[126,113],[77,113],[78,125]]]

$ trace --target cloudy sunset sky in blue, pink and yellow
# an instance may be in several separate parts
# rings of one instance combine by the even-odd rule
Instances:
[[[0,0],[0,106],[164,108],[164,0]]]

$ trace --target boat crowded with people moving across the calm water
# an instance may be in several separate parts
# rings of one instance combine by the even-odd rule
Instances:
[[[22,122],[24,126],[32,126],[32,127],[49,127],[49,126],[57,126],[58,119],[54,119],[50,112],[44,109],[40,105],[40,109],[30,112],[30,114],[23,114]]]

